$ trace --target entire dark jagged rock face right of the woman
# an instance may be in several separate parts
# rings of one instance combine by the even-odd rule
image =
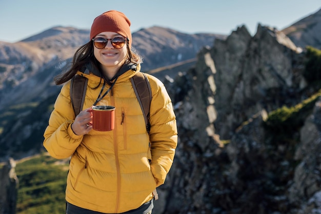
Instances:
[[[156,213],[320,211],[320,103],[298,116],[297,130],[284,127],[285,139],[265,125],[269,112],[316,92],[303,77],[304,53],[259,25],[253,37],[237,28],[197,59],[166,82],[179,141]]]

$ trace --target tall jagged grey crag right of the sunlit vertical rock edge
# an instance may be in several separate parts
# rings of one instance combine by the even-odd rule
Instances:
[[[251,37],[238,28],[226,41],[216,40],[211,55],[215,62],[216,133],[230,133],[261,109],[271,111],[291,105],[306,84],[299,50],[282,32],[259,25]],[[295,100],[295,99],[294,99]]]

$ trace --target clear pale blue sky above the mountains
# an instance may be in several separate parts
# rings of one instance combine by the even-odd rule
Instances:
[[[180,32],[230,34],[257,24],[281,30],[321,9],[321,0],[0,0],[0,41],[17,42],[54,26],[90,29],[108,10],[124,12],[131,30],[152,26]]]

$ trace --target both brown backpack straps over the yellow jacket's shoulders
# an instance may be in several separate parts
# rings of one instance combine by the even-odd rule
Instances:
[[[131,77],[130,81],[133,85],[139,105],[142,108],[146,130],[149,133],[149,107],[152,100],[150,83],[147,79],[146,74],[142,72],[137,72],[133,77]],[[71,79],[70,98],[75,115],[78,115],[79,112],[81,112],[81,110],[83,109],[87,83],[88,79],[83,75],[75,75]]]

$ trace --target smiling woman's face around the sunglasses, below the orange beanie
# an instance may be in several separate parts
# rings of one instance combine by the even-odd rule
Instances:
[[[122,35],[119,35],[115,32],[101,32],[97,37],[103,37],[103,38],[114,38],[114,37],[122,37]],[[103,49],[98,49],[94,46],[94,56],[96,57],[97,61],[101,63],[102,69],[105,71],[114,71],[118,70],[126,61],[126,55],[127,55],[127,43],[120,48],[116,49],[112,46],[111,40],[108,40],[107,45]]]

